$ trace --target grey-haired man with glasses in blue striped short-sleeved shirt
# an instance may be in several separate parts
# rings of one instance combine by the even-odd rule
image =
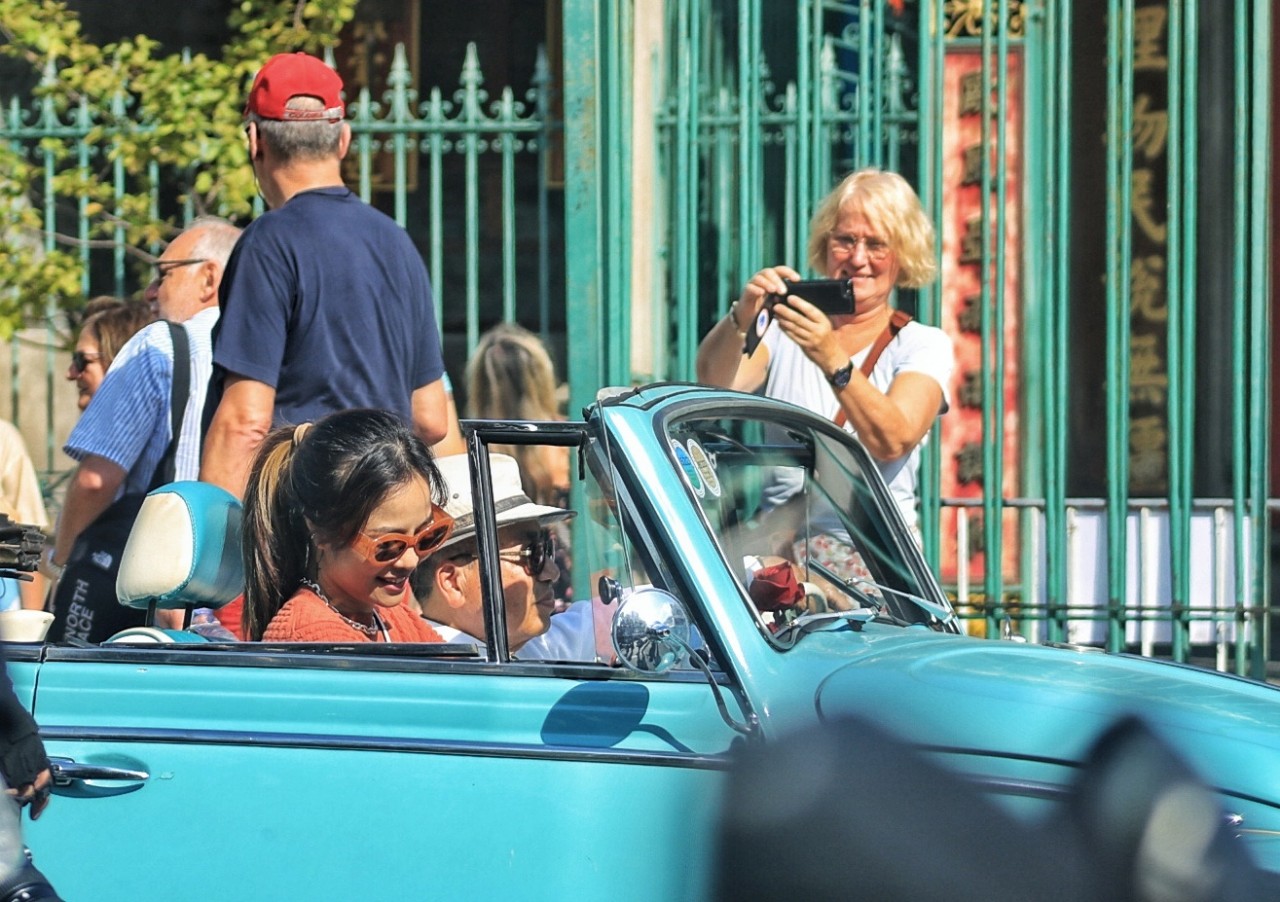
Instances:
[[[134,334],[111,361],[93,403],[63,450],[78,466],[67,485],[46,576],[56,580],[81,532],[123,494],[145,493],[173,438],[170,394],[174,347],[168,322],[182,324],[189,344],[189,388],[174,479],[193,480],[200,468],[200,415],[212,370],[211,331],[218,322],[218,287],[241,230],[206,216],[174,238],[156,261],[146,299],[161,322]],[[113,599],[114,601],[114,599]]]

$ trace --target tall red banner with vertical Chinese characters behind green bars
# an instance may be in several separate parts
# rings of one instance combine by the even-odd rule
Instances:
[[[1005,498],[1016,496],[1019,473],[1019,375],[1021,349],[1021,159],[1023,159],[1023,79],[1021,52],[1011,51],[1005,60],[1005,118],[1004,118],[1004,279],[996,284],[995,243],[997,234],[998,194],[996,193],[1000,160],[997,152],[996,64],[987,69],[989,79],[991,114],[987,134],[983,134],[983,65],[975,51],[954,49],[946,55],[942,104],[942,328],[951,335],[956,349],[956,372],[951,384],[951,411],[942,417],[942,498],[980,499],[983,493]],[[983,143],[984,137],[987,143]],[[989,155],[989,196],[987,228],[991,230],[992,249],[989,267],[983,273],[983,152]],[[986,287],[986,296],[983,288]],[[1004,381],[996,392],[1004,397],[1004,467],[1002,479],[989,479],[984,472],[984,443],[995,441],[996,434],[983,431],[983,386],[997,374],[992,371],[996,354],[996,336],[991,335],[988,358],[983,361],[983,303],[988,305],[992,328],[996,324],[996,305],[1004,310]],[[986,569],[983,551],[982,508],[969,508],[969,574],[980,580]],[[947,507],[942,512],[942,578],[956,578],[959,550],[956,523],[959,513]],[[1019,544],[1014,528],[1015,514],[1005,514],[1004,572],[1016,574]]]

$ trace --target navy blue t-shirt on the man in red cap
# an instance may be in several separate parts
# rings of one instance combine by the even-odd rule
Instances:
[[[413,390],[444,372],[422,257],[347,188],[301,192],[250,224],[219,303],[206,425],[227,374],[271,385],[279,426],[353,407],[412,422]]]

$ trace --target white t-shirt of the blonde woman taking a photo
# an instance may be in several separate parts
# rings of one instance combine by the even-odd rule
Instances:
[[[817,363],[805,357],[795,342],[782,334],[777,324],[771,324],[764,333],[763,344],[769,349],[769,372],[764,381],[764,393],[778,400],[788,400],[814,413],[833,420],[840,409],[836,393],[827,381],[827,375]],[[854,367],[861,366],[870,353],[870,347],[854,354]],[[876,368],[872,370],[870,384],[881,392],[888,392],[890,385],[901,372],[920,372],[933,379],[942,389],[942,416],[951,407],[951,374],[955,370],[955,349],[951,338],[936,326],[927,326],[911,320],[897,336],[884,345]],[[852,426],[845,425],[850,432]],[[919,516],[915,510],[915,493],[920,472],[920,449],[928,441],[928,435],[910,452],[893,461],[876,461],[893,499],[902,510],[906,525],[915,528]],[[776,477],[764,487],[764,507],[782,504],[800,490],[801,473],[794,468],[781,468]]]

